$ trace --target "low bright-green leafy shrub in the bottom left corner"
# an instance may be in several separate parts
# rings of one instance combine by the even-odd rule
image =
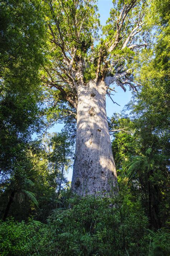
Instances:
[[[41,242],[41,230],[44,228],[44,224],[34,220],[28,221],[27,224],[24,221],[15,222],[13,219],[1,223],[1,255],[36,255],[36,246]]]

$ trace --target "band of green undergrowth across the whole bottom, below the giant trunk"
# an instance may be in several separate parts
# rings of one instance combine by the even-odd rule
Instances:
[[[1,222],[1,255],[169,255],[165,230],[147,228],[140,203],[128,194],[74,197],[70,208],[55,210],[47,224]]]

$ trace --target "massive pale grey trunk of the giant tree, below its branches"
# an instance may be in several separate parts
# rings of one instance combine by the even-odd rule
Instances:
[[[106,115],[106,87],[90,81],[78,89],[76,149],[72,191],[78,195],[109,195],[117,187]]]

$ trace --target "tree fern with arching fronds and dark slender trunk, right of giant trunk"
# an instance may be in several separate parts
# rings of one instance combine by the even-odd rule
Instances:
[[[158,183],[152,182],[154,180],[154,172],[156,170],[165,170],[165,161],[169,156],[154,154],[152,148],[146,150],[145,156],[136,156],[133,158],[132,163],[126,166],[127,176],[129,178],[128,184],[133,179],[139,179],[141,189],[147,198],[148,216],[150,223],[155,225],[156,228],[160,227],[160,220],[157,219],[160,203],[160,190]]]

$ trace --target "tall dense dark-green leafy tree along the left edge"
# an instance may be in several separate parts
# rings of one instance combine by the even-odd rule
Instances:
[[[0,182],[1,193],[8,194],[4,219],[17,196],[19,201],[24,194],[35,199],[28,187],[32,166],[27,152],[41,124],[39,68],[45,27],[40,11],[40,1],[0,4]]]

